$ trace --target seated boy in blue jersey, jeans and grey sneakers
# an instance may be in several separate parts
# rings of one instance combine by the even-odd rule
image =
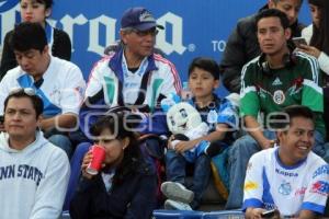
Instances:
[[[208,185],[211,158],[232,141],[231,134],[238,125],[237,105],[214,93],[218,85],[219,68],[216,61],[195,58],[189,68],[189,88],[193,94],[189,103],[201,114],[202,122],[208,126],[208,132],[193,140],[180,139],[174,147],[171,142],[175,139],[173,136],[170,138],[166,153],[168,182],[161,185],[162,193],[168,197],[164,203],[167,209],[198,207],[202,194]],[[195,154],[191,154],[191,151]],[[189,163],[194,164],[192,185],[185,182],[185,168]]]

